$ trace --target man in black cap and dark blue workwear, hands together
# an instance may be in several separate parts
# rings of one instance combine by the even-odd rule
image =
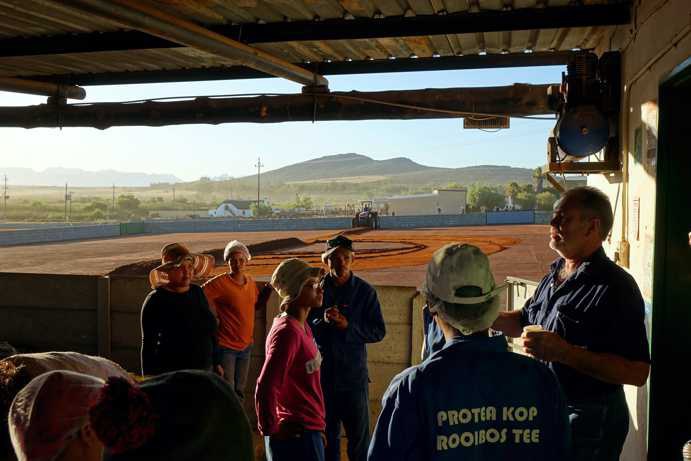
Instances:
[[[377,292],[351,271],[353,242],[339,235],[326,242],[322,261],[324,301],[310,312],[310,325],[322,354],[326,405],[326,461],[340,459],[341,423],[348,437],[348,459],[365,461],[369,444],[369,392],[365,344],[384,339],[386,328]]]

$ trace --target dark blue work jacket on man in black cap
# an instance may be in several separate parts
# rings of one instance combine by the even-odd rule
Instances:
[[[336,306],[348,320],[339,330],[324,321],[324,311]],[[321,381],[325,391],[344,391],[367,387],[366,343],[384,339],[386,327],[377,292],[351,274],[342,286],[331,275],[324,278],[322,307],[310,311],[309,324],[322,355]]]

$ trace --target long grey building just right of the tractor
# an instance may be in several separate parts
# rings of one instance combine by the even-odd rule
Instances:
[[[431,194],[404,195],[377,200],[378,208],[395,216],[465,213],[466,189],[439,189]]]

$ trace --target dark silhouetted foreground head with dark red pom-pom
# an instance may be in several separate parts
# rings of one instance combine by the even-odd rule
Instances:
[[[89,411],[105,461],[252,461],[252,433],[235,392],[199,370],[137,385],[106,382]]]

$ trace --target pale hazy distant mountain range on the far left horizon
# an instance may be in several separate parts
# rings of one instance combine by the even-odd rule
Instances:
[[[8,183],[15,186],[64,186],[72,187],[147,187],[154,183],[174,183],[181,180],[170,174],[127,173],[115,170],[86,171],[79,168],[47,168],[43,171],[31,168],[2,168]]]

